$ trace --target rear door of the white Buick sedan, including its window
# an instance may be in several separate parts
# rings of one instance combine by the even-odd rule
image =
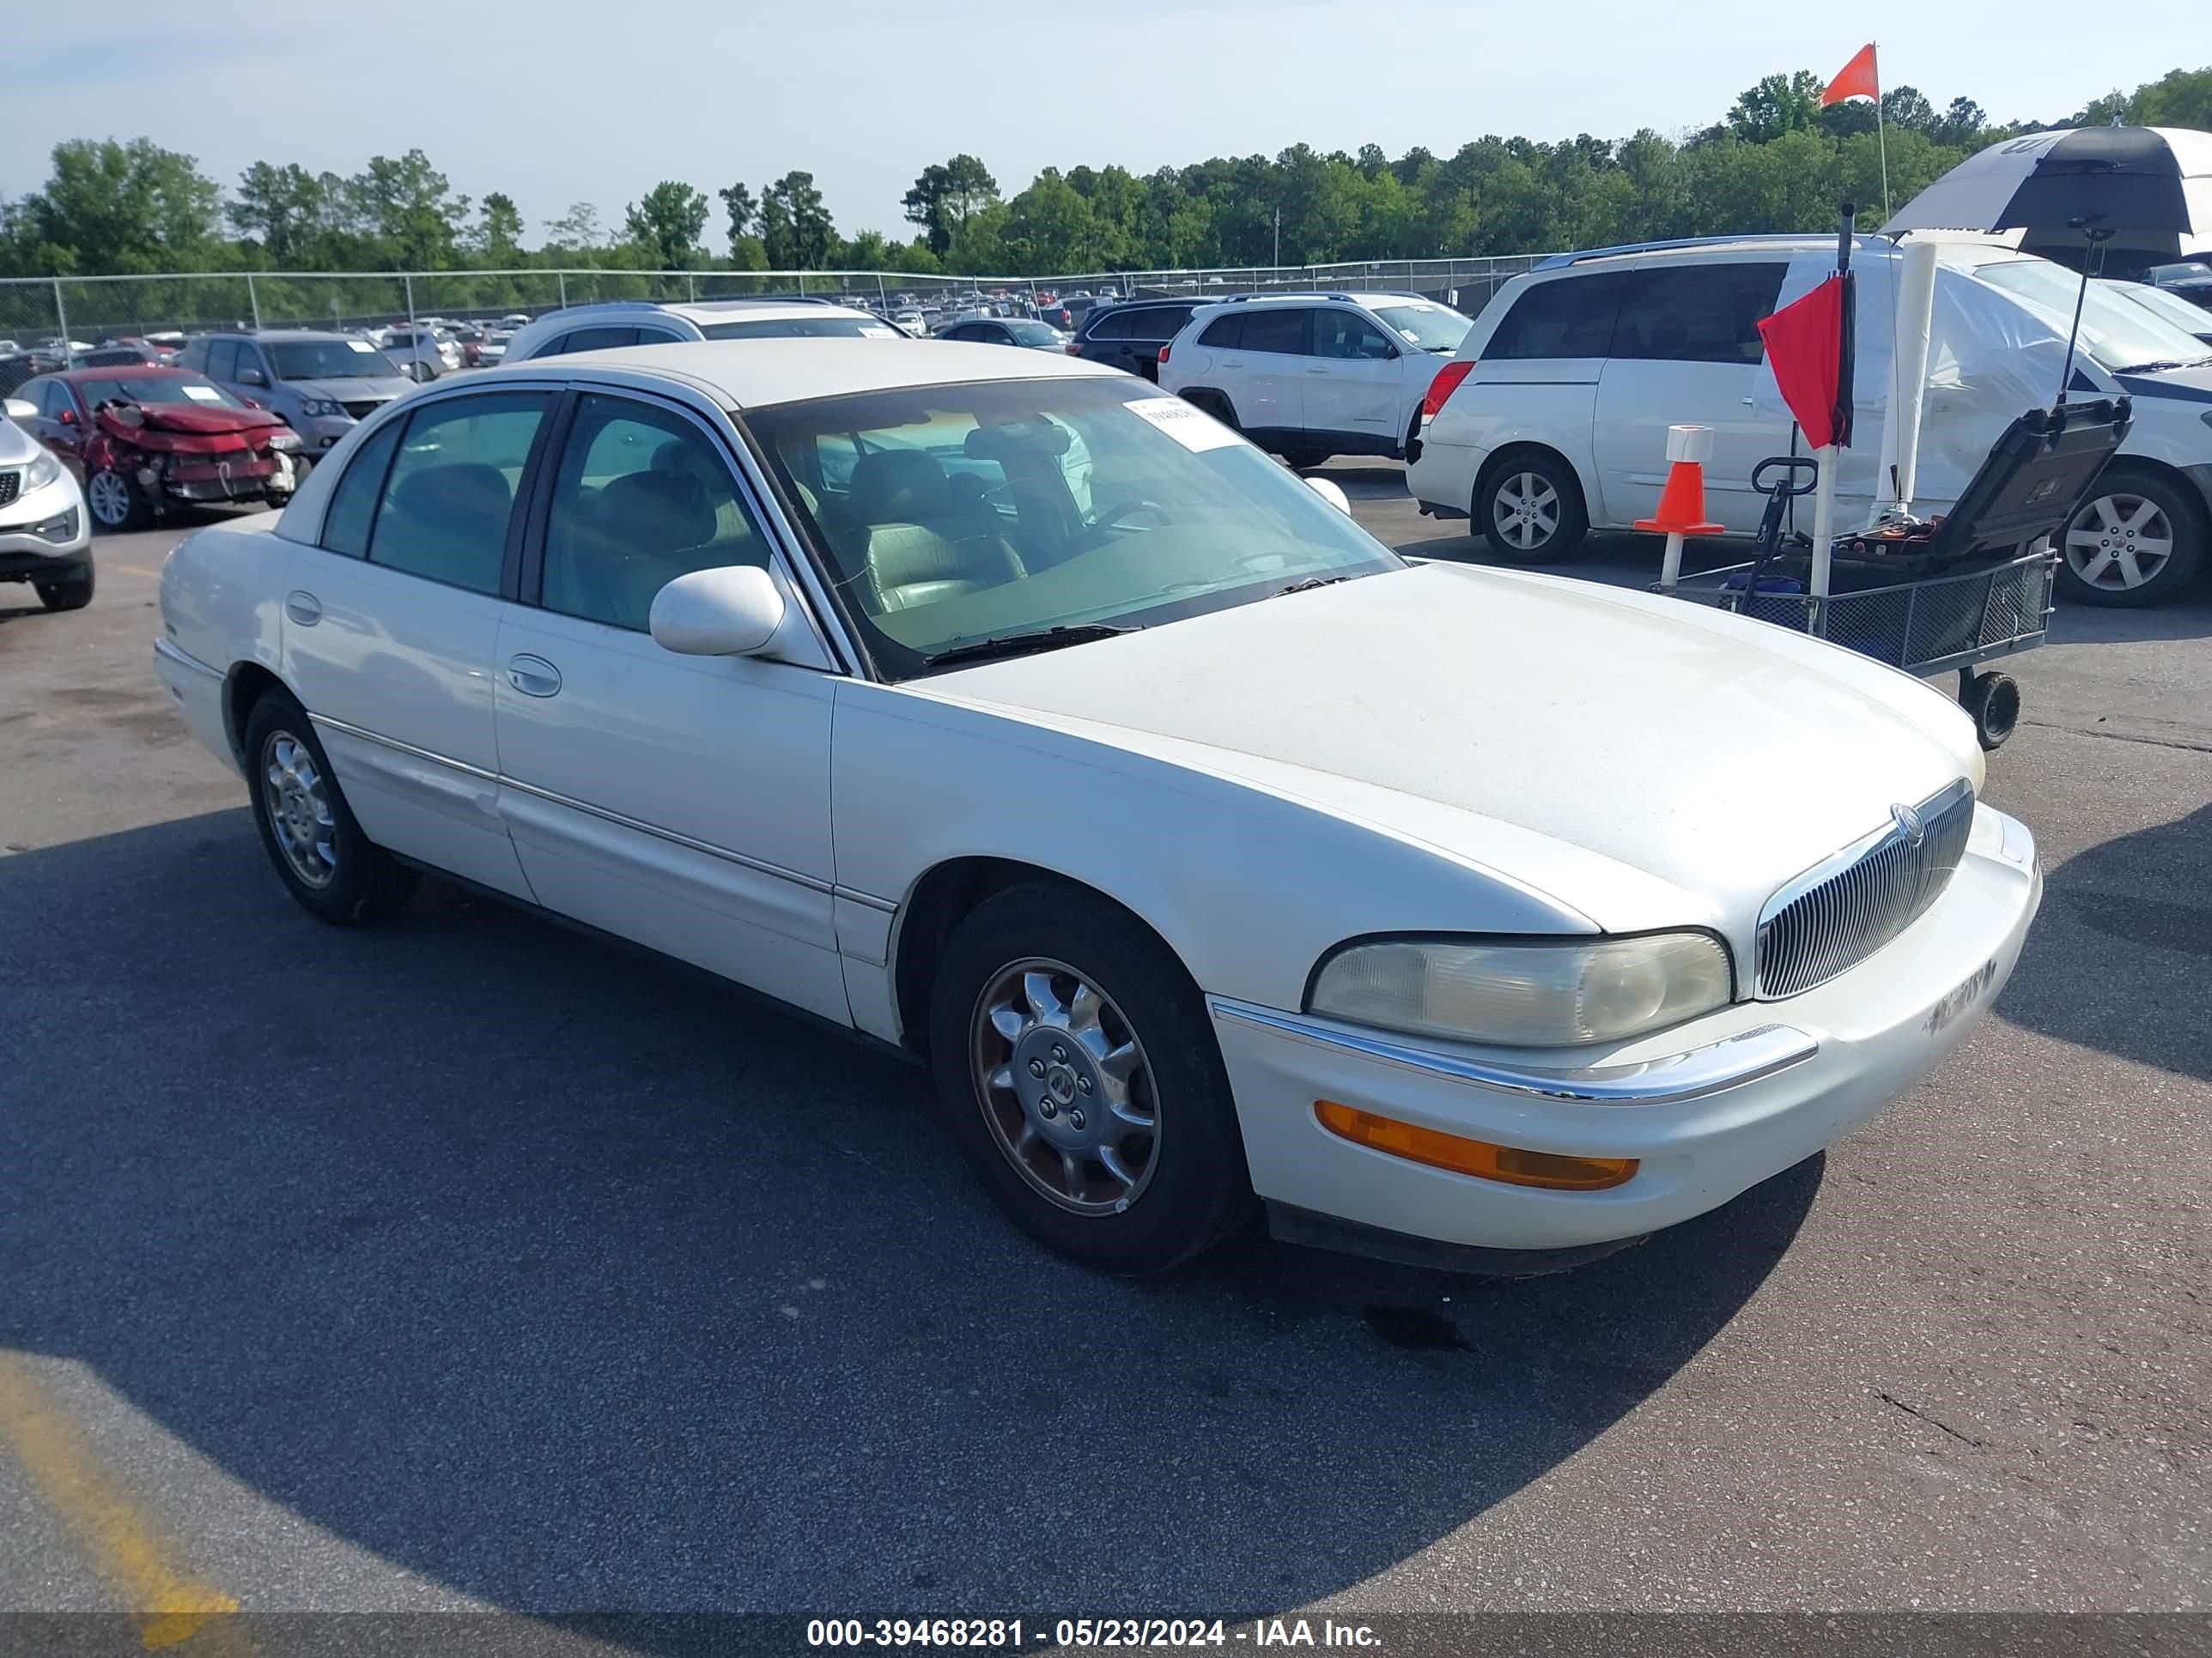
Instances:
[[[471,391],[378,429],[281,599],[283,676],[369,840],[515,898],[531,891],[498,811],[491,672],[549,405]]]

